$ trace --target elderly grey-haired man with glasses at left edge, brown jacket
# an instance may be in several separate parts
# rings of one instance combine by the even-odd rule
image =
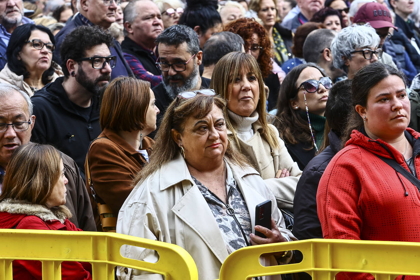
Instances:
[[[3,176],[7,173],[12,152],[21,145],[28,144],[35,124],[31,99],[17,86],[0,83],[0,192]],[[72,217],[69,220],[85,231],[96,231],[89,195],[80,177],[76,163],[66,154],[61,154],[66,184],[66,207]],[[22,164],[26,164],[22,162]]]

